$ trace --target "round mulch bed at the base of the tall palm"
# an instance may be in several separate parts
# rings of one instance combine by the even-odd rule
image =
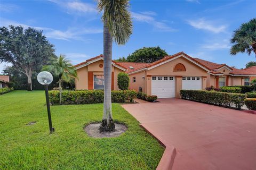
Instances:
[[[91,123],[85,126],[84,131],[92,138],[112,138],[118,137],[127,130],[127,127],[121,123],[115,123],[115,131],[113,132],[100,132],[101,123]]]

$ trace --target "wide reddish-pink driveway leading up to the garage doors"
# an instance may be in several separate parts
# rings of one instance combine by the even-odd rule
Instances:
[[[182,99],[122,105],[177,150],[173,169],[256,169],[256,115]]]

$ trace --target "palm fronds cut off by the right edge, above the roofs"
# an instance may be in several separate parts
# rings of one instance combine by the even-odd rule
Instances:
[[[243,23],[239,29],[235,30],[230,42],[234,44],[230,49],[231,55],[239,52],[251,55],[254,52],[256,56],[256,18]]]

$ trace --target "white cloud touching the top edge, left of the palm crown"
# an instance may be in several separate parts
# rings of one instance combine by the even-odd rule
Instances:
[[[68,13],[98,13],[97,7],[94,4],[80,2],[80,1],[59,1],[59,0],[49,0],[55,4],[66,8]]]

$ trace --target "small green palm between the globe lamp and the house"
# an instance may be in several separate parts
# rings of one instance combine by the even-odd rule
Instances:
[[[51,65],[47,65],[44,70],[52,72],[59,78],[60,105],[62,104],[62,80],[69,82],[70,77],[77,78],[75,67],[70,63],[65,55],[60,55]]]

